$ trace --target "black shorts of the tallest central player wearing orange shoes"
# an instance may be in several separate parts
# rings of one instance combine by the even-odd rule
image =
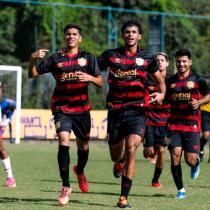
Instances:
[[[130,134],[141,137],[145,132],[146,117],[142,110],[109,110],[108,143],[115,145]]]

